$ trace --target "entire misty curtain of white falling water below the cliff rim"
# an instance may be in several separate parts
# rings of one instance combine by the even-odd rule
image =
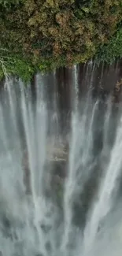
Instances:
[[[53,130],[49,118],[53,113],[58,115],[58,98],[55,93],[50,110],[44,76],[36,77],[35,107],[29,87],[18,80],[6,80],[0,102],[3,256],[121,254],[122,217],[117,198],[122,169],[122,115],[118,111],[113,132],[110,99],[101,102],[88,94],[79,100],[76,67],[74,86],[71,131],[62,147],[64,138],[57,141],[59,119],[53,122]],[[61,170],[55,167],[57,161],[65,163]]]

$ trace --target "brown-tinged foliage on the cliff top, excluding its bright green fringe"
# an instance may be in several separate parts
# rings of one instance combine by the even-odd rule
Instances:
[[[21,0],[0,13],[0,44],[39,62],[87,61],[122,20],[121,0]],[[0,6],[0,7],[1,7]]]

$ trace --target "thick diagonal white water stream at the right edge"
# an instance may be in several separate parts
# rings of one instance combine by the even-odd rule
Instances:
[[[122,120],[120,119],[119,127],[116,131],[116,140],[110,154],[109,164],[102,180],[102,184],[98,189],[98,202],[94,203],[93,211],[91,212],[90,220],[85,228],[84,243],[86,245],[84,254],[91,254],[94,247],[95,239],[98,232],[100,221],[111,208],[113,203],[113,190],[116,187],[116,179],[120,174],[122,159],[120,152],[122,150]],[[87,252],[86,252],[87,250]]]

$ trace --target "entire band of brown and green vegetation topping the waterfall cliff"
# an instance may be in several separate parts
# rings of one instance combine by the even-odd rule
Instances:
[[[0,0],[0,76],[122,56],[121,0]]]

